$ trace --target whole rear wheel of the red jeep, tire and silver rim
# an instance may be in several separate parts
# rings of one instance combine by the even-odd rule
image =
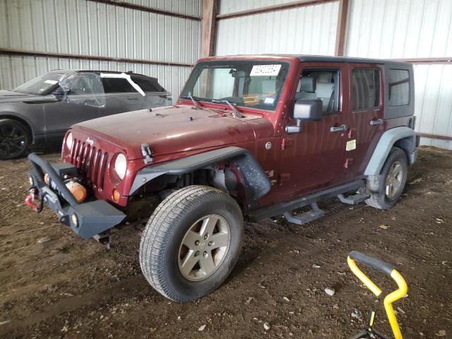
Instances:
[[[369,177],[371,197],[367,205],[387,210],[393,207],[402,195],[407,182],[408,161],[403,150],[394,147],[381,169],[380,175]]]

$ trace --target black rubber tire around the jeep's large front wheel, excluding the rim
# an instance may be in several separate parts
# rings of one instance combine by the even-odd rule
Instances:
[[[201,281],[191,281],[179,270],[182,243],[197,220],[206,215],[220,215],[227,222],[227,250],[213,273]],[[194,301],[215,290],[230,275],[239,257],[243,234],[242,210],[233,198],[209,186],[184,187],[167,196],[150,216],[141,237],[141,270],[163,296],[176,302]],[[207,246],[206,242],[201,245]]]

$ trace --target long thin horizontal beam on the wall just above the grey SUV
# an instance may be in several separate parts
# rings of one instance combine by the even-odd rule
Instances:
[[[19,55],[19,56],[25,56],[25,57],[49,57],[49,58],[82,59],[82,60],[93,60],[93,61],[116,61],[116,62],[129,62],[132,64],[150,64],[150,65],[160,65],[160,66],[178,66],[178,67],[193,67],[194,66],[193,64],[184,64],[181,62],[172,62],[172,61],[101,57],[101,56],[85,55],[85,54],[66,54],[66,53],[54,53],[54,52],[23,51],[23,50],[18,50],[18,49],[5,49],[5,48],[0,48],[0,54]]]

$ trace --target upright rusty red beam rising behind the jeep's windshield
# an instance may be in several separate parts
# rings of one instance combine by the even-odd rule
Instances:
[[[203,0],[203,17],[201,20],[201,58],[213,56],[215,42],[216,0]]]

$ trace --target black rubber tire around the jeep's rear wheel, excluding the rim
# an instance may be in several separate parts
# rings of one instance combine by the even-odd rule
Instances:
[[[400,186],[398,186],[398,189],[394,191],[391,196],[388,196],[386,193],[386,179],[388,179],[391,167],[398,164],[400,164],[402,171],[400,174]],[[381,169],[381,173],[374,177],[367,178],[367,187],[371,194],[371,197],[366,201],[367,205],[374,208],[380,208],[381,210],[388,210],[393,207],[403,193],[403,189],[407,182],[407,175],[407,155],[402,149],[393,147]]]

